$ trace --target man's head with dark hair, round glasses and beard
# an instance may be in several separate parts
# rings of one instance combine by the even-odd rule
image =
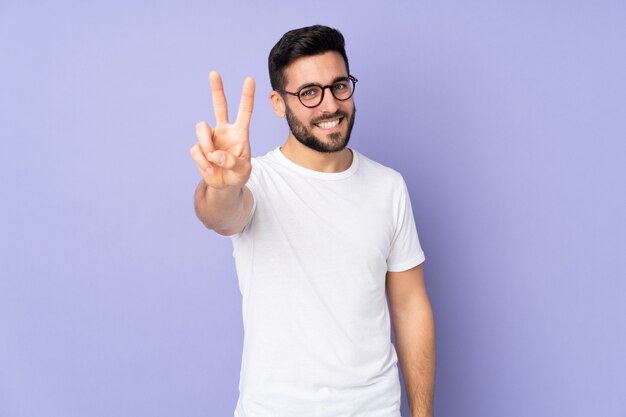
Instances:
[[[318,152],[344,149],[354,124],[356,80],[349,78],[343,35],[319,25],[291,30],[272,48],[268,66],[272,106],[287,117],[293,136]],[[307,101],[310,94],[321,101]]]

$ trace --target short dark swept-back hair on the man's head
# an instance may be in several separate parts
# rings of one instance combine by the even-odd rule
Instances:
[[[293,29],[285,33],[274,45],[267,59],[270,83],[273,89],[282,89],[287,84],[285,68],[303,56],[320,55],[324,52],[339,52],[346,63],[348,74],[350,67],[346,56],[343,35],[337,29],[314,25]]]

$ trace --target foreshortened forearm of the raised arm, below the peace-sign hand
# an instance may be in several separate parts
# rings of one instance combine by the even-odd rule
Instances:
[[[201,181],[195,193],[198,219],[220,234],[236,231],[244,217],[244,188],[216,189]]]

